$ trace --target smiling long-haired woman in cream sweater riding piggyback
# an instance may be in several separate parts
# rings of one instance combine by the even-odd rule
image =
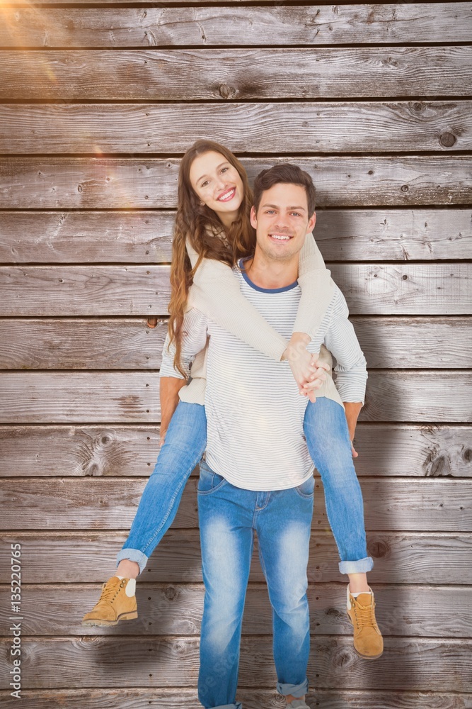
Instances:
[[[366,577],[366,572],[372,569],[372,559],[367,556],[362,493],[352,464],[352,455],[356,453],[351,447],[358,412],[349,431],[344,413],[343,420],[339,420],[339,406],[330,406],[333,401],[341,406],[343,402],[331,377],[323,374],[323,367],[330,363],[329,353],[322,351],[320,360],[314,362],[306,350],[321,325],[334,286],[315,241],[308,235],[300,255],[302,295],[292,339],[287,342],[272,329],[242,296],[231,271],[238,259],[253,253],[251,203],[246,172],[229,150],[207,140],[198,141],[188,150],[179,173],[170,335],[166,345],[171,342],[175,347],[175,369],[185,377],[180,366],[183,316],[193,306],[268,357],[289,360],[300,393],[311,399],[306,408],[304,432],[323,480],[328,519],[341,559],[340,571],[349,575],[348,601],[354,608],[362,601],[364,610],[359,612],[364,625],[370,613],[367,626],[372,627],[367,627],[367,635],[371,642],[372,635],[379,635]],[[117,555],[117,575],[103,585],[97,605],[84,616],[84,625],[115,625],[119,620],[137,618],[134,579],[171,525],[185,483],[205,452],[205,351],[192,364],[190,384],[175,374],[174,370],[161,372],[161,451],[129,537]],[[325,376],[325,381],[320,376]],[[315,403],[313,393],[317,388]],[[335,445],[342,453],[330,456],[326,450],[328,440],[331,450]],[[376,642],[372,652],[364,649],[361,654],[378,657],[379,649]]]

